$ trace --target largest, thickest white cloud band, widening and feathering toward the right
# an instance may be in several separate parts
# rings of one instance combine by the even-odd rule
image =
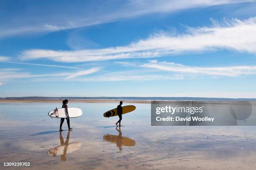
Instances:
[[[58,62],[88,62],[125,58],[150,58],[184,52],[228,49],[256,54],[256,18],[233,19],[225,24],[213,23],[213,27],[188,28],[188,33],[169,35],[160,32],[148,39],[122,47],[92,50],[54,51],[26,50],[23,60],[49,59]]]

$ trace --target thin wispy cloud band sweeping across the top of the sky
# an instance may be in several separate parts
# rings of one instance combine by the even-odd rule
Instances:
[[[54,32],[81,28],[101,23],[125,20],[150,13],[170,13],[197,7],[209,7],[214,5],[230,5],[254,0],[123,0],[72,3],[50,2],[41,5],[36,2],[22,4],[22,10],[16,8],[8,10],[5,17],[0,19],[2,23],[0,38],[20,34],[38,32]],[[3,5],[5,7],[5,5]],[[60,10],[59,7],[66,10]],[[0,9],[1,10],[1,9]],[[44,15],[41,15],[43,12]],[[132,13],[131,13],[132,11]],[[33,15],[30,15],[33,13]]]

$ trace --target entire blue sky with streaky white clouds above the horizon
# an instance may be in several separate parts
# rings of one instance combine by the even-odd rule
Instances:
[[[255,0],[1,0],[0,97],[256,98]]]

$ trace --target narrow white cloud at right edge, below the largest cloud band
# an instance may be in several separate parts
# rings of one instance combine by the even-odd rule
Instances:
[[[221,76],[241,76],[241,75],[256,75],[256,65],[232,66],[232,67],[191,67],[174,62],[158,62],[154,60],[141,65],[141,67],[155,68],[164,71],[191,73],[191,74],[206,74],[206,75],[221,75]]]

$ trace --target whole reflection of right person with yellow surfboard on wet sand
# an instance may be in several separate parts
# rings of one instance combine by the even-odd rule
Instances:
[[[118,131],[118,135],[103,135],[103,140],[106,140],[108,142],[116,143],[116,146],[119,148],[119,150],[122,150],[122,146],[134,146],[135,140],[132,140],[130,138],[122,137],[122,132],[119,127],[115,128],[115,130]]]

